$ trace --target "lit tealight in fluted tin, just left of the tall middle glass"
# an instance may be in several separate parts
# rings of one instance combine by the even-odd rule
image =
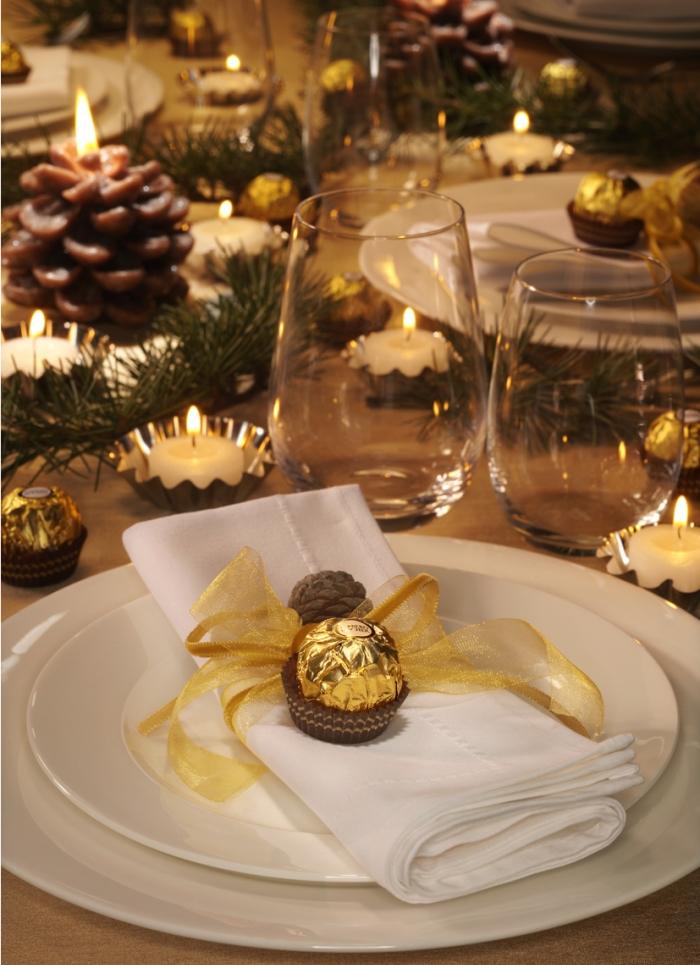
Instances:
[[[237,485],[243,476],[243,451],[233,439],[201,435],[201,426],[199,410],[190,406],[187,435],[163,439],[149,452],[149,478],[158,476],[165,489],[186,480],[198,489],[206,489],[216,479]]]

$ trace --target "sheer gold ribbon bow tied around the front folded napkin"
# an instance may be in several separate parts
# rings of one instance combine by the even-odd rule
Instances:
[[[546,708],[578,733],[600,733],[600,691],[530,624],[489,620],[448,634],[437,617],[438,584],[426,574],[392,581],[373,598],[374,608],[362,618],[391,633],[412,691],[463,694],[505,688]],[[187,649],[208,659],[175,700],[144,720],[139,731],[149,734],[169,723],[168,758],[176,773],[209,800],[223,801],[254,783],[266,768],[243,748],[236,757],[207,750],[188,736],[181,716],[193,701],[219,690],[224,720],[245,744],[250,727],[284,702],[280,671],[307,628],[275,595],[262,560],[247,548],[191,612],[200,622],[187,638]]]

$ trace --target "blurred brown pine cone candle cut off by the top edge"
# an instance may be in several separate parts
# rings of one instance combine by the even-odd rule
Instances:
[[[418,14],[430,23],[443,58],[468,76],[500,73],[513,60],[513,21],[496,0],[393,0],[404,15]]]

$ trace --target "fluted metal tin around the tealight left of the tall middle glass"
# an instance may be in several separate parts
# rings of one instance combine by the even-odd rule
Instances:
[[[200,489],[184,480],[167,489],[160,477],[148,477],[148,454],[153,446],[163,439],[186,436],[185,426],[178,418],[149,422],[132,429],[114,443],[107,453],[107,460],[140,496],[170,512],[189,513],[249,499],[274,465],[267,430],[251,422],[205,416],[202,432],[231,439],[242,449],[244,471],[235,486],[215,479]]]

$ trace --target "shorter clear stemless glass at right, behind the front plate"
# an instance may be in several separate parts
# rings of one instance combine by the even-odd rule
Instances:
[[[651,423],[683,408],[669,271],[642,254],[563,249],[522,262],[496,339],[491,482],[532,542],[593,553],[658,522],[681,463],[647,451]]]

